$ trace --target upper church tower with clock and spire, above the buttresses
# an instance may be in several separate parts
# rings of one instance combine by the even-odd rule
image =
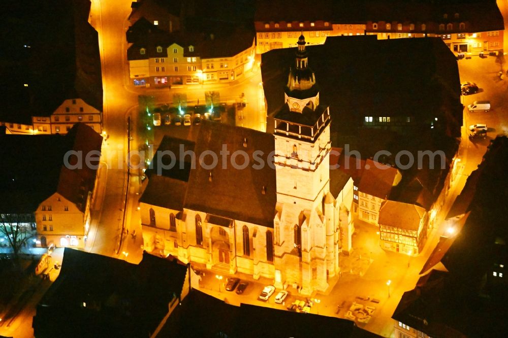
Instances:
[[[319,88],[308,67],[305,38],[284,87],[284,107],[275,115],[277,201],[322,210],[329,190],[330,112],[319,104]]]

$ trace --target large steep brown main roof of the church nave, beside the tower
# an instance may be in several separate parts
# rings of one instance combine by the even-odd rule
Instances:
[[[247,167],[235,168],[228,160],[223,168],[221,156],[212,169],[196,165],[196,170],[190,172],[184,208],[273,227],[277,199],[275,170],[266,164],[274,150],[273,135],[204,121],[196,140],[196,156],[199,158],[205,151],[219,155],[224,146],[230,154],[246,152]],[[253,158],[255,151],[261,152],[260,158],[265,163],[260,169],[252,167],[258,163]],[[209,164],[210,156],[205,161]],[[242,164],[244,157],[237,156],[237,161]]]

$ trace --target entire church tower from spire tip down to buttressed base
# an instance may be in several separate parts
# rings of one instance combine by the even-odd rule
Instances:
[[[294,66],[284,87],[285,105],[275,114],[277,214],[274,219],[275,287],[302,294],[328,287],[336,241],[330,189],[330,111],[319,102],[308,67],[305,38],[298,39]],[[330,224],[328,224],[328,223]]]

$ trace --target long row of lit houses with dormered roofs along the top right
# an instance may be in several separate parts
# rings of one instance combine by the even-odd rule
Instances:
[[[310,45],[324,44],[327,37],[375,35],[380,40],[439,37],[454,53],[479,54],[503,48],[504,24],[495,2],[455,6],[398,4],[400,8],[392,11],[391,4],[382,7],[376,4],[357,5],[364,7],[363,14],[340,2],[316,4],[320,11],[309,6],[304,11],[288,8],[279,12],[273,10],[274,6],[277,5],[273,2],[261,2],[257,8],[257,53],[296,47],[294,38],[301,32]],[[400,14],[398,20],[387,20],[388,17],[396,18],[396,13],[404,14]],[[299,20],[284,21],[288,17]],[[313,20],[309,20],[311,18]]]

